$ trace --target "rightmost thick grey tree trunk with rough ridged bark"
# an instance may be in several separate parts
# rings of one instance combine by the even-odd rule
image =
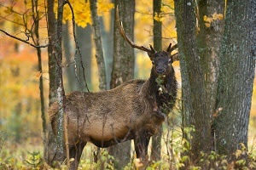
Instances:
[[[218,79],[218,115],[215,119],[219,154],[231,156],[247,132],[255,72],[256,3],[230,0],[227,3],[224,40]]]

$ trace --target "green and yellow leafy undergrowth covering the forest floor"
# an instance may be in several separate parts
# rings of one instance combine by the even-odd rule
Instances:
[[[131,157],[131,161],[123,169],[256,169],[256,154],[254,144],[250,146],[250,150],[247,150],[244,144],[241,145],[240,150],[236,150],[232,154],[236,159],[235,161],[228,161],[227,157],[219,155],[215,151],[211,153],[204,153],[201,151],[201,159],[195,166],[189,158],[189,151],[191,145],[189,138],[193,138],[191,133],[195,131],[194,127],[186,127],[183,129],[187,133],[188,139],[181,138],[181,132],[178,128],[168,126],[164,128],[164,134],[162,138],[162,155],[160,161],[149,161],[142,163],[136,159],[135,154]],[[49,167],[42,155],[42,146],[38,150],[32,150],[32,148],[26,148],[22,145],[14,146],[9,145],[7,137],[0,133],[0,170],[5,169],[52,169]],[[16,149],[16,150],[15,150]],[[22,150],[23,149],[23,150]],[[79,169],[114,169],[114,165],[118,163],[113,156],[108,154],[107,150],[101,150],[97,162],[93,159],[95,147],[91,146],[91,149],[86,149],[84,156],[79,164]],[[15,151],[14,151],[15,150]],[[32,150],[32,151],[27,151]],[[134,152],[133,152],[134,153]],[[71,159],[70,161],[73,161]],[[60,169],[67,169],[65,165],[61,165]]]

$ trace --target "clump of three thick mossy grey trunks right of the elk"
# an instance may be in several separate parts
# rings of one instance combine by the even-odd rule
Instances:
[[[247,147],[255,69],[253,12],[251,1],[230,1],[224,23],[224,1],[175,1],[183,127],[195,127],[190,141],[195,164],[200,151],[231,156],[239,143]]]

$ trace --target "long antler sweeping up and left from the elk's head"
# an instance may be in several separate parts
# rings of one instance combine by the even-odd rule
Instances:
[[[137,49],[143,50],[145,52],[148,52],[149,54],[154,54],[155,53],[155,50],[154,50],[154,48],[152,47],[151,44],[149,44],[150,48],[146,48],[144,46],[138,46],[137,44],[132,42],[129,37],[127,37],[125,35],[125,30],[124,30],[123,24],[119,20],[119,6],[117,6],[117,8],[116,8],[116,20],[118,22],[120,35],[125,38],[126,42],[128,42],[131,45],[132,48],[137,48]]]

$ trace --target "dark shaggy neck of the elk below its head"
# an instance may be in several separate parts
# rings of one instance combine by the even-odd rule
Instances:
[[[177,80],[173,68],[165,77],[158,76],[153,69],[151,70],[148,94],[154,97],[156,104],[164,113],[172,110],[177,98]]]

